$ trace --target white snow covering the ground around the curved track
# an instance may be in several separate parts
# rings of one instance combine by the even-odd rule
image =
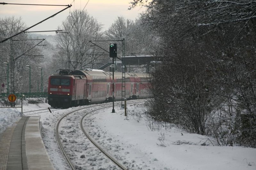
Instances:
[[[39,110],[50,107],[48,104],[26,104],[23,112],[29,110]],[[76,108],[56,110],[53,113],[40,111],[43,124],[42,138],[46,150],[56,169],[70,169],[58,149],[54,129],[57,120],[65,113]],[[18,111],[17,111],[18,110]],[[112,108],[97,111],[89,115],[83,122],[85,129],[89,130],[91,137],[110,154],[119,158],[120,163],[129,169],[171,169],[171,170],[255,170],[256,169],[256,149],[240,146],[215,146],[214,139],[198,135],[188,134],[185,131],[175,128],[150,129],[149,122],[143,114],[142,104],[128,104],[128,117],[125,118],[124,110],[115,107],[116,113],[111,113]],[[0,132],[7,126],[15,124],[21,113],[20,108],[0,108]],[[84,111],[86,112],[86,111]],[[24,113],[28,115],[30,113]],[[79,114],[83,114],[80,111]],[[71,127],[77,128],[79,125]],[[152,127],[152,125],[151,125]],[[90,150],[91,146],[85,142],[86,137],[69,138],[69,133],[63,133],[62,139],[66,138],[72,144],[67,144],[67,148],[73,148],[74,158],[77,165],[84,162],[91,162],[88,169],[115,169],[114,166],[98,157],[98,151]],[[84,141],[84,142],[83,142]],[[79,144],[81,150],[74,147]],[[87,158],[87,152],[93,155]],[[77,156],[76,156],[77,154]],[[83,157],[82,155],[85,155]],[[108,165],[104,166],[104,162]],[[97,167],[97,168],[96,168]],[[79,168],[79,166],[78,166]],[[81,166],[80,169],[84,167]],[[85,169],[85,168],[84,168]]]

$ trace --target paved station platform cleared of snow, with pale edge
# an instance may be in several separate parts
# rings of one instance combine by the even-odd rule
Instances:
[[[54,170],[41,137],[40,116],[22,116],[0,135],[0,170]]]

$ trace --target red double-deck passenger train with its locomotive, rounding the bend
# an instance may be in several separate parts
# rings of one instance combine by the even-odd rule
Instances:
[[[48,104],[52,107],[72,107],[112,101],[112,72],[99,70],[60,70],[48,82]],[[149,75],[125,73],[125,97],[148,98]],[[114,72],[114,100],[122,99],[122,73]]]

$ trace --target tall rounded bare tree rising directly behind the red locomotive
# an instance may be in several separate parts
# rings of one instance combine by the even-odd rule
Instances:
[[[97,59],[98,56],[95,58],[95,55],[82,55],[82,53],[95,53],[89,41],[98,40],[102,36],[102,25],[87,11],[71,12],[59,29],[68,33],[59,33],[56,37],[59,52],[55,55],[63,60],[59,68],[65,66],[68,69],[83,69]]]

